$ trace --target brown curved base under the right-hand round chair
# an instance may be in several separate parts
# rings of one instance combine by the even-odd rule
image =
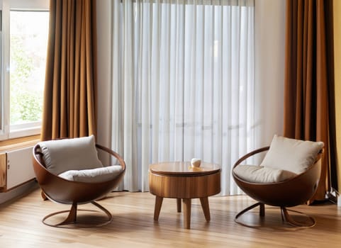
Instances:
[[[262,218],[265,215],[265,208],[264,208],[264,203],[255,203],[253,205],[250,205],[249,207],[245,208],[244,210],[240,211],[240,213],[238,213],[237,215],[235,215],[235,222],[237,222],[240,225],[245,225],[244,223],[240,222],[238,220],[238,218],[240,218],[241,215],[243,215],[244,213],[246,213],[247,211],[251,210],[252,208],[256,208],[257,206],[259,206],[259,216]],[[310,221],[306,221],[306,222],[298,222],[296,220],[294,220],[291,215],[289,215],[289,211],[294,212],[294,213],[299,213],[301,215],[305,215],[306,218],[308,218],[308,220]],[[296,210],[288,210],[285,207],[281,207],[281,218],[283,222],[287,222],[290,225],[294,226],[294,227],[313,227],[316,224],[316,221],[314,218],[312,218],[309,215],[306,215],[304,213],[298,212]],[[250,227],[248,225],[245,225],[247,227]]]

